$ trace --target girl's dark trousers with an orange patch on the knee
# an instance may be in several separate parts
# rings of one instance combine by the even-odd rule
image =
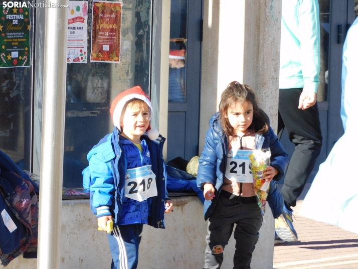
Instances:
[[[208,243],[205,250],[205,269],[220,268],[224,249],[234,231],[234,269],[249,269],[252,252],[259,239],[262,225],[261,211],[257,203],[238,204],[220,196],[213,215],[209,218]]]

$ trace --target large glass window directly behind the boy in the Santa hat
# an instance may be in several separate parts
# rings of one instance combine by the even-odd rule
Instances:
[[[111,100],[135,85],[149,94],[152,1],[122,3],[120,63],[67,64],[64,187],[82,187],[87,153],[112,132]],[[91,22],[89,1],[87,55],[91,53]]]

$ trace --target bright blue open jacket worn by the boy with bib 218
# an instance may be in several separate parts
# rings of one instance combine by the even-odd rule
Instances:
[[[117,127],[114,127],[112,133],[94,146],[87,155],[90,165],[82,172],[84,188],[91,191],[92,212],[97,213],[96,207],[109,206],[110,211],[114,213],[114,223],[117,223],[123,208],[127,170],[127,160],[119,135]],[[169,200],[166,195],[166,176],[164,176],[166,173],[162,156],[165,138],[159,135],[155,141],[151,141],[144,134],[141,139],[144,139],[148,145],[158,192],[157,196],[149,198],[150,201],[148,199],[148,204],[150,204],[148,225],[154,228],[165,228],[164,205],[165,200]]]

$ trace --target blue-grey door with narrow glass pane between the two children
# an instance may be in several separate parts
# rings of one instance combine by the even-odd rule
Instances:
[[[199,151],[202,1],[171,0],[167,161]]]

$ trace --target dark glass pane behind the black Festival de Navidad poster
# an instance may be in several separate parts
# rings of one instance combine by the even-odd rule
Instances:
[[[3,8],[2,11],[9,12]],[[18,14],[21,14],[20,10]],[[33,22],[34,9],[30,8],[30,59],[34,47]],[[6,44],[2,45],[4,49]],[[32,169],[32,77],[33,65],[0,68],[0,150],[28,171]]]

